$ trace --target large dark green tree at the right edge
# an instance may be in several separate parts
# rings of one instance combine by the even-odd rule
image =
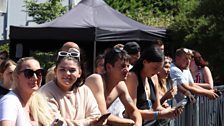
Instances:
[[[180,7],[168,27],[174,47],[198,50],[208,60],[215,82],[224,83],[224,1],[191,0],[184,4],[187,6]]]

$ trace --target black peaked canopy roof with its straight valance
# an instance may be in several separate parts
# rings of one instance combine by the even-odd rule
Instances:
[[[166,30],[134,21],[103,0],[82,0],[55,20],[32,27],[10,26],[10,39],[75,41],[152,41],[164,38]]]

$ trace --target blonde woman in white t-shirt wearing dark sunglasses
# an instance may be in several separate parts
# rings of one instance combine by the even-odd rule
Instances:
[[[15,89],[0,99],[0,126],[36,126],[39,121],[34,120],[32,108],[41,105],[31,106],[35,100],[33,95],[42,81],[43,69],[40,63],[33,57],[21,58],[13,72],[13,83]],[[43,106],[42,106],[43,107]],[[45,110],[44,108],[40,108]],[[47,115],[47,114],[46,114]],[[42,116],[45,118],[46,116]],[[44,120],[46,121],[45,118]],[[52,119],[53,120],[53,119]],[[50,122],[53,122],[50,120]],[[48,123],[50,125],[50,123]]]

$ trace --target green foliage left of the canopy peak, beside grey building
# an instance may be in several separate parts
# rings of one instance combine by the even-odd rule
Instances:
[[[49,0],[45,3],[37,3],[36,0],[25,0],[26,12],[38,23],[44,23],[63,15],[67,7],[62,6],[61,0]]]

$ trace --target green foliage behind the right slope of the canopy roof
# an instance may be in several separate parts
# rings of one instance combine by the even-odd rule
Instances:
[[[105,0],[112,8],[145,25],[168,27],[177,13],[173,0]]]

